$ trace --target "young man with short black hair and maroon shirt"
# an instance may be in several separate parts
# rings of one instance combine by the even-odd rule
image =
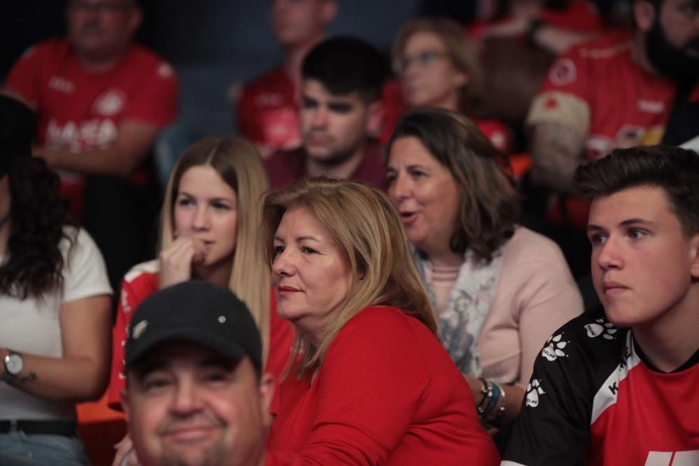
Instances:
[[[303,147],[266,161],[270,184],[305,176],[384,183],[381,89],[387,73],[382,54],[357,38],[338,37],[313,48],[301,68]]]

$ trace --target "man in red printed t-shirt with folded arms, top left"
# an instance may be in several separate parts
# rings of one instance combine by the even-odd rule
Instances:
[[[178,80],[133,42],[142,18],[136,0],[71,0],[66,18],[68,37],[29,48],[3,92],[36,111],[34,155],[61,173],[71,210],[118,289],[131,266],[152,256],[157,192],[147,155],[175,118]]]

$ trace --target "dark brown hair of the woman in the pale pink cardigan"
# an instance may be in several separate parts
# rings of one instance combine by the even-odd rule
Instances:
[[[521,198],[507,173],[510,159],[473,121],[450,110],[425,108],[405,115],[396,124],[386,153],[397,139],[406,137],[417,138],[459,187],[452,252],[463,254],[470,248],[480,259],[491,261],[493,252],[512,237],[521,216]]]

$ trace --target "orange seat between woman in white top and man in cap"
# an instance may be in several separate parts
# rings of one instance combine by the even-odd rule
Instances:
[[[127,433],[122,412],[107,407],[107,395],[99,401],[80,403],[78,433],[85,442],[87,455],[94,466],[109,466],[114,459],[114,444]]]

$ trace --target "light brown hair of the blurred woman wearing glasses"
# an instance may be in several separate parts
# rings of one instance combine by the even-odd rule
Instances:
[[[405,24],[398,31],[391,48],[394,71],[400,74],[401,62],[408,40],[419,32],[434,34],[447,49],[452,65],[468,75],[468,82],[459,89],[459,110],[469,113],[478,110],[484,92],[483,71],[473,43],[466,37],[466,30],[447,18],[418,18]]]

